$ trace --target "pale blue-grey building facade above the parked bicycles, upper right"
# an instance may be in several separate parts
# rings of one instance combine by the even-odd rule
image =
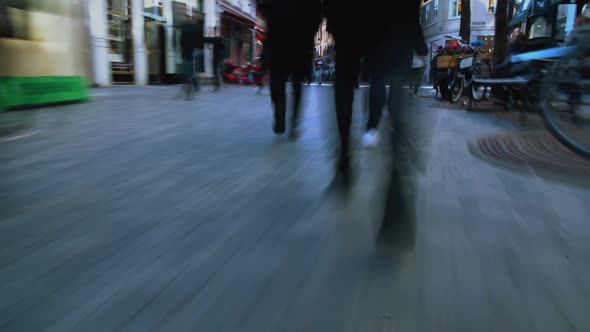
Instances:
[[[497,0],[471,0],[470,41],[481,40],[492,47],[494,40]],[[461,23],[461,0],[423,0],[420,23],[427,46],[434,57],[439,46],[444,47],[449,38],[459,36]],[[430,64],[428,64],[430,66]],[[427,68],[426,73],[430,70]]]

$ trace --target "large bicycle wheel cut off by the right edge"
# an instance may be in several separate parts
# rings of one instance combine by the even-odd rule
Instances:
[[[541,88],[545,124],[561,143],[590,158],[590,67],[567,56],[547,69]]]

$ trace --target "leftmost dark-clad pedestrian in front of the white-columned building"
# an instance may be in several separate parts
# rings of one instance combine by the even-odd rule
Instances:
[[[187,16],[180,32],[184,79],[184,95],[191,99],[192,92],[199,90],[199,72],[203,71],[203,25],[192,16]]]

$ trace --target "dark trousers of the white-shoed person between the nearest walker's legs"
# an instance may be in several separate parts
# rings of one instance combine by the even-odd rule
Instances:
[[[383,106],[387,106],[387,111],[396,125],[396,117],[402,107],[402,81],[401,76],[394,74],[375,73],[371,75],[367,130],[377,129]],[[389,93],[387,93],[387,85],[389,85]]]

